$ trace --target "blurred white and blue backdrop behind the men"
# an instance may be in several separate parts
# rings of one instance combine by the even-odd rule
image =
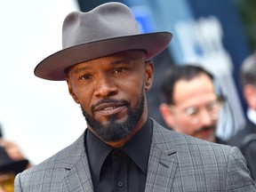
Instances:
[[[0,124],[33,164],[68,146],[84,132],[79,106],[66,82],[34,76],[37,63],[61,49],[62,22],[68,12],[88,12],[104,0],[4,1],[1,10]],[[170,31],[172,43],[155,58],[155,82],[148,92],[149,115],[158,112],[159,84],[165,68],[196,62],[217,77],[217,91],[228,100],[220,119],[220,138],[228,140],[244,124],[245,103],[238,82],[242,61],[256,46],[255,0],[123,0],[142,32]]]

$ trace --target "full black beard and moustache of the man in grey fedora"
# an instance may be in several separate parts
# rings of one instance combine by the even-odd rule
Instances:
[[[134,108],[131,108],[131,104],[127,100],[106,99],[100,101],[100,103],[109,102],[124,103],[124,106],[126,106],[126,108],[128,109],[128,117],[126,120],[124,120],[124,122],[118,122],[116,115],[113,115],[108,118],[108,124],[104,125],[100,121],[95,119],[93,107],[91,108],[92,116],[90,116],[81,105],[80,107],[82,109],[87,124],[90,125],[93,132],[100,138],[100,140],[103,140],[105,142],[116,142],[118,140],[123,140],[128,137],[134,130],[136,124],[139,123],[140,117],[142,116],[142,113],[144,111],[145,95],[143,93],[140,94],[140,98]]]

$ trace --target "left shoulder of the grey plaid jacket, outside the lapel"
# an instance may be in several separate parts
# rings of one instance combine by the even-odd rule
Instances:
[[[86,155],[83,133],[82,136],[67,148],[63,148],[42,163],[36,164],[28,170],[19,173],[15,178],[15,191],[19,191],[21,186],[22,191],[45,191],[47,187],[54,187],[56,190],[57,188],[62,188],[63,181],[60,180],[63,180],[66,172],[84,156]],[[44,190],[41,189],[43,186]],[[52,189],[48,191],[52,191]]]

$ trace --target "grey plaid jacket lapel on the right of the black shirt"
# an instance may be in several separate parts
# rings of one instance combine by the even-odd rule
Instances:
[[[145,191],[171,191],[178,167],[175,143],[170,131],[154,120],[153,137],[148,160],[148,174]]]

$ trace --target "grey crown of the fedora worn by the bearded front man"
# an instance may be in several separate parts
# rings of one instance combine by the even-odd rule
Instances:
[[[107,3],[90,12],[70,12],[63,22],[62,48],[139,34],[138,23],[125,4]]]

